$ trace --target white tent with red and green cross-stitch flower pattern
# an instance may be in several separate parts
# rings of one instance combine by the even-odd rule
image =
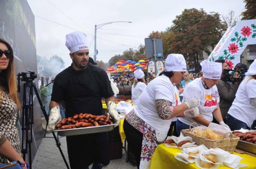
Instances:
[[[225,59],[229,69],[240,63],[247,45],[256,44],[256,20],[244,20],[230,26],[213,49],[208,60]]]

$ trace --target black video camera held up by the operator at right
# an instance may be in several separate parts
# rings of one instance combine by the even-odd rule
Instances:
[[[247,72],[247,70],[243,68],[238,68],[238,70],[224,69],[224,71],[227,73],[225,73],[220,79],[225,82],[231,82],[231,83],[242,81],[245,77],[245,72]],[[230,71],[232,71],[232,73],[229,73]],[[239,78],[234,77],[235,72],[238,72],[238,74],[240,75]]]

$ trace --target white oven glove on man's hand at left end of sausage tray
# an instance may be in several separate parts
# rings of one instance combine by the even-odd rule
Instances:
[[[54,131],[55,125],[60,120],[60,108],[59,106],[55,106],[50,110],[50,116],[48,121],[48,127],[50,130]]]

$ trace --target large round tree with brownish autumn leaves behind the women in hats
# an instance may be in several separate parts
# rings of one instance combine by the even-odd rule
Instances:
[[[224,33],[220,15],[215,12],[208,14],[203,9],[185,9],[172,23],[172,37],[169,39],[172,53],[183,54],[189,64],[194,62],[198,71],[199,54],[202,51],[210,54],[208,45],[214,48]]]

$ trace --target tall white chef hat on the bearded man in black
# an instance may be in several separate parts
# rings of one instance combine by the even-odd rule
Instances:
[[[66,47],[69,49],[70,53],[74,53],[79,50],[89,49],[86,34],[80,31],[67,34]]]

